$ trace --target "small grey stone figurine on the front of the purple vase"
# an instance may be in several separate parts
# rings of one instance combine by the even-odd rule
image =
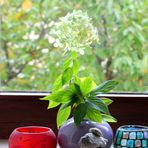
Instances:
[[[80,148],[104,148],[107,142],[99,129],[90,128],[89,133],[80,138],[79,145]]]

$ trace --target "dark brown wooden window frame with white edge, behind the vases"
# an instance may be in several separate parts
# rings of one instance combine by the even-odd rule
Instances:
[[[3,93],[0,92],[0,139],[8,139],[16,127],[28,125],[47,126],[57,133],[57,108],[47,110],[48,102],[39,98],[45,93]],[[114,100],[110,105],[111,114],[118,119],[111,124],[114,132],[125,124],[148,126],[148,94],[106,95]]]

